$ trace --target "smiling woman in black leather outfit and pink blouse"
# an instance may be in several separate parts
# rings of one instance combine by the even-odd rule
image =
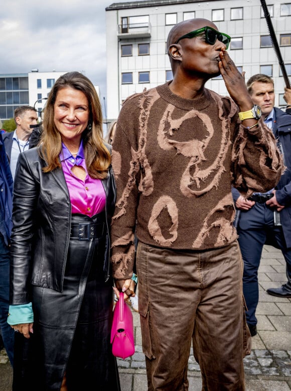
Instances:
[[[79,72],[61,76],[14,183],[15,391],[120,389],[110,345],[115,182],[102,134],[93,84]]]

